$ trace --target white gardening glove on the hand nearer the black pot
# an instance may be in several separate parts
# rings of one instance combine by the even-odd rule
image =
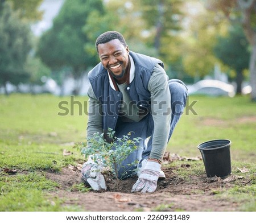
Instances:
[[[149,160],[141,171],[138,180],[133,185],[131,192],[154,192],[157,186],[160,168],[160,163]]]

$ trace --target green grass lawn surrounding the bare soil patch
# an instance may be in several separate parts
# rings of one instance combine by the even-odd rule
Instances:
[[[87,115],[84,110],[88,98],[73,99],[77,103],[72,105],[71,97],[48,94],[0,96],[0,211],[80,210],[74,205],[64,206],[63,200],[49,196],[51,191],[57,191],[58,185],[44,176],[45,171],[58,172],[83,159],[72,150],[72,144],[85,140]],[[201,142],[230,139],[232,171],[241,175],[237,167],[248,168],[251,182],[216,193],[241,203],[241,210],[255,210],[256,104],[242,96],[193,96],[189,97],[187,108],[193,101],[197,101],[192,107],[196,114],[192,109],[185,111],[167,150],[180,156],[197,156],[200,155],[197,145]],[[64,112],[61,102],[66,103],[63,106],[69,110],[68,115],[58,115]],[[64,149],[73,155],[63,156]],[[19,173],[7,175],[3,172],[5,168],[19,170]],[[187,181],[189,175],[203,173],[200,161],[191,162],[191,168],[177,168],[177,175]],[[79,184],[69,188],[73,190],[86,192]]]

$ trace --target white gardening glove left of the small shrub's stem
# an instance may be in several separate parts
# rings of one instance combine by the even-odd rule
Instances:
[[[92,160],[82,166],[82,179],[86,181],[94,191],[106,189],[104,176],[101,174],[102,167]]]

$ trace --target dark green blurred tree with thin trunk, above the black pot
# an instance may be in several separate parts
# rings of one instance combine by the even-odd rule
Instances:
[[[248,47],[249,43],[239,26],[231,27],[228,36],[219,36],[214,47],[214,53],[218,59],[236,71],[237,94],[242,92],[243,71],[249,64]]]

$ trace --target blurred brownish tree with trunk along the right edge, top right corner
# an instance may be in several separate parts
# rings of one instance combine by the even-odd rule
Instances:
[[[256,0],[207,0],[207,8],[222,12],[232,24],[239,23],[243,27],[251,46],[251,100],[256,101]]]

